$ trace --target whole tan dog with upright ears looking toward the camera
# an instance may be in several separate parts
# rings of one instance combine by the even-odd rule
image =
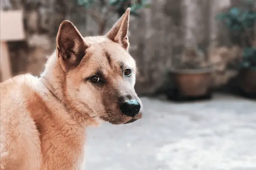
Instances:
[[[42,76],[1,83],[1,170],[81,170],[86,127],[142,117],[129,14],[98,37],[83,38],[63,21]]]

